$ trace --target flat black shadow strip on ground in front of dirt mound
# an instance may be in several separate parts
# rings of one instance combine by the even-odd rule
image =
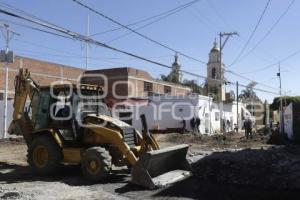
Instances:
[[[257,187],[222,184],[214,181],[190,177],[163,189],[153,197],[178,197],[202,200],[257,200],[257,199],[298,199],[296,190],[275,190]]]

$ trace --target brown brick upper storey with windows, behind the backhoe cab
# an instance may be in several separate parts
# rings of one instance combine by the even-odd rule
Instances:
[[[191,92],[189,87],[173,84],[152,78],[146,71],[131,67],[89,70],[83,78],[84,83],[107,84],[107,97],[126,99],[127,97],[147,97],[170,94],[171,96],[186,95]],[[107,78],[104,84],[103,75]]]

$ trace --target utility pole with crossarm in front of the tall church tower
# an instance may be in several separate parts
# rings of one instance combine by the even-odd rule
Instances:
[[[222,50],[223,50],[223,48],[224,48],[224,46],[225,46],[225,44],[226,44],[226,42],[228,41],[228,39],[231,37],[231,36],[233,36],[233,35],[238,35],[238,33],[237,32],[230,32],[230,33],[222,33],[222,32],[220,32],[219,33],[219,39],[220,39],[220,91],[221,91],[221,99],[220,99],[220,132],[223,132],[224,130],[223,130],[223,118],[224,118],[224,116],[223,116],[223,101],[225,100],[224,98],[224,96],[223,96],[223,92],[222,92],[222,87],[223,87],[223,83],[224,83],[224,76],[223,76],[223,74],[224,74],[224,71],[223,71],[223,69],[222,69]],[[224,42],[222,42],[222,38],[223,37],[226,37],[225,38],[225,40],[224,40]]]

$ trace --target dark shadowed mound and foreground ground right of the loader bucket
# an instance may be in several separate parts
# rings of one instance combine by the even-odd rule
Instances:
[[[153,197],[298,199],[300,147],[213,153],[192,165],[193,176]]]

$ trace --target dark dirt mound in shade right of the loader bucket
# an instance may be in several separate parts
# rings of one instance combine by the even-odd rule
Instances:
[[[300,189],[300,147],[217,152],[193,164],[194,175],[222,183]]]

